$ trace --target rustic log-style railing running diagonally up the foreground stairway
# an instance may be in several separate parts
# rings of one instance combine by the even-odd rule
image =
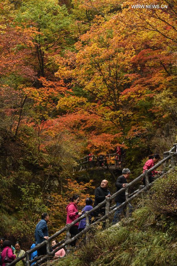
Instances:
[[[99,203],[92,210],[90,210],[88,212],[85,212],[85,214],[83,214],[82,216],[80,216],[79,218],[77,218],[76,220],[74,220],[72,223],[66,224],[66,226],[64,226],[61,230],[59,230],[58,232],[56,232],[54,235],[50,236],[48,240],[45,240],[42,243],[40,243],[37,246],[35,246],[33,249],[30,249],[30,250],[26,251],[25,254],[22,257],[17,258],[13,262],[11,262],[8,266],[15,265],[17,262],[19,262],[21,259],[23,259],[25,257],[26,257],[26,266],[30,266],[30,264],[33,263],[33,262],[35,262],[35,261],[36,262],[35,262],[34,266],[35,265],[38,265],[39,263],[41,263],[44,260],[48,259],[49,256],[53,256],[59,249],[64,248],[64,246],[67,246],[67,250],[66,250],[66,254],[67,254],[69,252],[69,244],[72,241],[78,239],[80,236],[82,236],[83,233],[87,232],[92,226],[96,225],[98,222],[103,221],[103,220],[106,220],[111,214],[113,214],[116,210],[118,210],[118,208],[121,208],[121,207],[127,205],[135,197],[137,197],[140,193],[144,192],[144,190],[149,189],[153,185],[153,183],[154,183],[154,181],[152,183],[150,183],[150,181],[149,181],[149,173],[151,173],[153,170],[155,170],[156,168],[158,168],[162,164],[164,164],[164,166],[166,166],[166,163],[169,160],[171,160],[171,163],[170,163],[170,165],[168,167],[172,167],[173,168],[175,166],[175,164],[176,164],[176,160],[175,160],[175,156],[177,155],[177,153],[175,153],[176,152],[176,147],[177,147],[177,144],[176,143],[173,144],[173,147],[168,152],[165,152],[164,153],[163,160],[161,160],[160,162],[158,162],[155,166],[153,166],[149,170],[146,170],[144,173],[142,173],[136,179],[134,179],[129,184],[127,184],[127,186],[125,188],[120,189],[118,192],[114,193],[111,197],[106,198],[103,202]],[[166,173],[163,173],[163,175],[161,175],[160,177],[164,176]],[[137,189],[135,192],[129,194],[129,188],[130,188],[130,186],[132,186],[135,183],[139,182],[143,177],[145,177],[145,186],[143,186],[143,185],[142,186],[139,186],[139,189]],[[118,207],[116,207],[116,205],[110,207],[111,200],[113,200],[118,194],[120,194],[123,191],[125,191],[126,201],[123,202]],[[91,213],[93,211],[98,210],[103,205],[105,205],[105,215],[102,216],[101,218],[99,218],[94,223],[91,223],[90,224],[89,223],[89,215],[91,215]],[[69,229],[72,226],[74,226],[76,223],[78,223],[80,220],[82,220],[83,218],[86,218],[86,228],[84,230],[82,230],[80,233],[78,233],[76,236],[70,238]],[[51,243],[51,241],[54,240],[59,235],[61,235],[61,233],[64,233],[65,231],[66,231],[66,238],[64,238],[59,243],[57,243],[56,246],[53,247],[53,248],[56,248],[56,249],[53,250],[52,252],[50,252],[50,243]],[[41,258],[35,258],[35,259],[33,259],[33,260],[30,261],[29,260],[30,254],[32,254],[34,251],[38,250],[39,248],[41,248],[44,245],[46,245],[46,247],[47,247],[47,254],[45,256],[41,257]]]

